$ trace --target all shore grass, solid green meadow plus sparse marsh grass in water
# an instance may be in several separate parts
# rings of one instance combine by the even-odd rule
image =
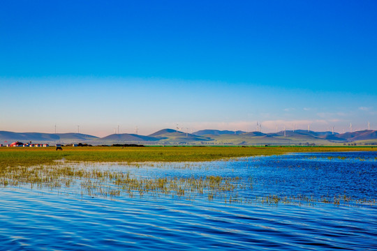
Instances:
[[[0,149],[0,188],[73,190],[91,197],[160,197],[170,196],[188,200],[197,197],[225,203],[308,204],[334,205],[376,204],[371,200],[356,200],[346,196],[321,197],[304,195],[279,197],[264,195],[242,197],[240,191],[253,190],[253,177],[223,176],[135,176],[131,172],[98,169],[101,162],[127,163],[135,168],[163,167],[163,162],[186,162],[172,168],[190,169],[192,162],[230,159],[251,155],[276,155],[310,151],[366,151],[376,149],[344,147],[147,147],[121,149],[116,147],[69,148],[64,151],[47,149]],[[341,157],[340,157],[341,158]],[[58,160],[58,161],[57,161]],[[84,162],[84,164],[83,164]]]

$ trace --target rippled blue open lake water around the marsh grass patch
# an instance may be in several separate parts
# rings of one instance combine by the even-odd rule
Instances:
[[[102,197],[77,192],[80,185],[7,186],[0,188],[0,250],[376,250],[376,158],[300,153],[141,167],[80,164],[138,178],[237,178],[237,185],[212,199],[206,192]],[[279,201],[266,202],[272,196]]]

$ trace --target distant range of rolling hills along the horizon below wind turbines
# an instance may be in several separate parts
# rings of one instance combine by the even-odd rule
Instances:
[[[377,144],[376,130],[361,130],[343,134],[332,132],[314,132],[307,130],[287,130],[274,133],[244,132],[230,130],[199,130],[186,133],[178,130],[163,129],[151,135],[112,134],[95,137],[82,133],[41,133],[0,131],[0,144],[11,142],[33,143],[87,143],[101,144],[192,144],[192,145],[292,145],[292,144]],[[8,142],[8,143],[6,143]]]

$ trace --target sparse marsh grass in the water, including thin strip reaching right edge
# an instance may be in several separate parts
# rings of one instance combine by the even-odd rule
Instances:
[[[161,165],[161,163],[156,163]],[[136,176],[131,170],[98,169],[99,163],[62,163],[55,165],[36,165],[31,167],[8,167],[1,169],[0,188],[28,187],[40,190],[71,191],[67,193],[80,194],[89,197],[178,197],[179,199],[207,199],[209,201],[224,201],[226,204],[334,204],[360,206],[376,204],[374,200],[353,199],[346,195],[320,197],[313,195],[297,195],[279,197],[263,195],[257,197],[240,196],[239,193],[253,190],[253,178],[245,180],[242,177],[224,177],[214,175],[204,176]],[[130,167],[135,168],[135,165]],[[136,168],[147,168],[140,165]],[[177,167],[172,167],[177,168]],[[182,165],[191,168],[191,165]],[[247,194],[247,192],[246,192]]]

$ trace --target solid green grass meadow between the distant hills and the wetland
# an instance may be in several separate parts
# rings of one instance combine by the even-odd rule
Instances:
[[[210,161],[254,155],[327,151],[377,151],[371,146],[268,146],[268,147],[63,147],[63,151],[47,148],[0,148],[0,168],[51,165],[54,160],[84,162],[182,162]]]

